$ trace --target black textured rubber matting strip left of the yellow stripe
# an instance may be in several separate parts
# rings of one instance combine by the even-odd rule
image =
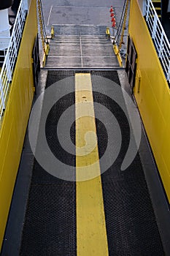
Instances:
[[[73,73],[69,71],[49,72],[47,87],[72,75]],[[72,85],[68,84],[68,86],[72,89]],[[74,166],[75,156],[66,155],[55,136],[58,119],[72,104],[74,104],[74,93],[67,94],[53,106],[47,117],[46,136],[53,154],[66,164]],[[74,129],[73,124],[71,129],[73,142]],[[75,193],[74,182],[51,176],[35,160],[20,256],[77,254]]]

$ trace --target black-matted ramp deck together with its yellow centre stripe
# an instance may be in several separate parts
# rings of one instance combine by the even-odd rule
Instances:
[[[85,108],[85,103],[80,108],[76,102],[77,99],[85,102],[89,91],[87,94],[84,90],[79,91],[80,97],[80,94],[74,93],[73,90],[74,86],[77,86],[77,77],[80,78],[80,86],[84,82],[84,84],[87,83],[85,77],[88,77],[91,78],[93,102],[104,106],[103,113],[97,105],[94,107],[98,157],[101,159],[107,148],[106,124],[114,126],[112,118],[110,119],[110,113],[117,118],[123,136],[120,154],[106,172],[103,173],[103,168],[107,165],[107,162],[104,162],[104,165],[100,165],[101,175],[88,181],[76,182],[50,175],[49,170],[44,170],[35,159],[19,255],[163,256],[163,247],[139,154],[136,155],[127,170],[120,170],[130,140],[130,127],[120,106],[112,98],[107,97],[108,93],[111,97],[115,95],[115,84],[120,86],[117,71],[82,72],[84,70],[80,70],[79,73],[76,70],[48,71],[47,89],[58,81],[56,94],[60,91],[63,95],[64,88],[69,91],[69,94],[61,97],[53,105],[47,117],[46,136],[50,150],[57,159],[69,166],[69,172],[72,172],[72,167],[78,167],[78,161],[81,159],[77,159],[76,151],[73,152],[74,154],[69,154],[62,148],[56,130],[59,119],[70,106],[75,103],[75,108],[72,108],[69,115],[69,118],[72,116],[75,120],[77,120],[77,111],[81,109],[83,111]],[[65,78],[65,82],[59,81],[61,78]],[[113,83],[106,83],[106,78]],[[97,92],[97,88],[101,88],[105,94]],[[123,94],[120,95],[120,98],[122,97]],[[43,105],[45,107],[45,102]],[[46,107],[44,107],[42,109],[45,110]],[[102,119],[104,123],[98,116],[104,117]],[[87,116],[83,118],[85,121],[82,123],[83,127],[87,127],[89,130],[91,117],[90,119],[87,119]],[[82,120],[83,118],[78,119]],[[41,124],[40,121],[39,134],[41,133]],[[64,126],[67,126],[66,119],[63,121],[62,131],[64,131]],[[80,124],[75,121],[70,128],[70,138],[75,145],[78,145],[77,143],[80,141],[77,139],[77,133],[81,131]],[[67,140],[65,132],[62,133],[64,140]],[[36,149],[42,150],[41,146]],[[108,159],[112,159],[112,150],[108,154]],[[86,167],[88,166],[88,157],[85,158]],[[63,173],[66,165],[55,166],[55,170]]]

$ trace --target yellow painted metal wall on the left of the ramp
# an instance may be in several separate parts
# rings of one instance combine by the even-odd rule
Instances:
[[[34,95],[31,53],[36,34],[36,1],[33,0],[0,129],[0,249]]]

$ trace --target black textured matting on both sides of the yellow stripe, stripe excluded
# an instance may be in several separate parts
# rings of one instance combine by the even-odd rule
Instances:
[[[47,87],[58,80],[73,76],[75,72],[49,71]],[[90,73],[108,78],[120,85],[116,71],[90,71]],[[102,86],[106,92],[112,93],[113,88],[106,86],[102,79],[97,85],[94,84],[93,78],[92,82],[93,87]],[[109,255],[164,255],[139,155],[136,155],[127,170],[120,170],[130,140],[128,120],[120,106],[110,97],[94,91],[93,99],[94,102],[99,102],[112,111],[120,124],[123,138],[120,154],[115,163],[101,176]],[[58,119],[72,104],[74,104],[74,93],[70,92],[53,106],[47,118],[46,135],[53,154],[62,162],[75,166],[74,155],[63,151],[55,135]],[[96,116],[97,111],[98,109],[95,108]],[[107,113],[103,115],[105,121],[109,122]],[[107,129],[97,118],[96,128],[99,156],[102,157],[107,148]],[[75,143],[75,124],[72,124],[70,135]],[[35,161],[20,256],[41,255],[77,255],[76,186],[74,182],[62,181],[50,176]]]

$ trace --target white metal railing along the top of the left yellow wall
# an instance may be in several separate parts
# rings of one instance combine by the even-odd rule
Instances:
[[[12,75],[18,57],[18,50],[20,48],[20,41],[23,34],[27,11],[28,0],[21,0],[20,7],[18,8],[18,13],[15,19],[15,24],[12,29],[9,47],[5,54],[4,63],[0,73],[0,121],[7,106],[7,98],[10,84],[12,82]]]

